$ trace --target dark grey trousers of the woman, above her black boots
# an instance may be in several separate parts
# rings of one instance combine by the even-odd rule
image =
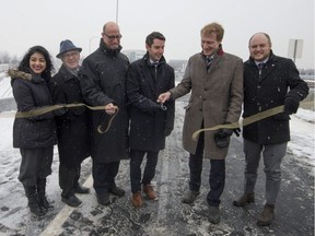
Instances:
[[[43,149],[20,149],[22,162],[19,180],[24,187],[37,185],[38,178],[46,178],[51,174],[54,146]]]

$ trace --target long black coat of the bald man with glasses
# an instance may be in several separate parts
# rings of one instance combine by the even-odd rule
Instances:
[[[86,57],[79,72],[83,97],[91,106],[106,106],[109,103],[118,106],[110,128],[98,133],[97,127],[108,125],[110,116],[105,110],[92,111],[92,158],[98,163],[117,162],[129,157],[128,150],[128,114],[126,96],[126,75],[128,58],[117,50],[106,48],[101,39],[100,48]]]

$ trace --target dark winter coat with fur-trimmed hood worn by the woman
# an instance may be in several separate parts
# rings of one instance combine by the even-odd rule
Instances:
[[[9,74],[12,79],[11,85],[18,111],[35,111],[52,105],[48,85],[43,78],[38,75],[28,80],[19,71],[11,71]],[[51,111],[30,118],[14,119],[14,148],[42,149],[56,143],[56,123]]]

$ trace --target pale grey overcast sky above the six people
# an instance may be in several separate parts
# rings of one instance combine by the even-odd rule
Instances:
[[[55,58],[67,38],[88,56],[104,23],[118,19],[122,49],[144,49],[147,35],[159,31],[166,60],[188,59],[200,51],[201,27],[218,22],[226,52],[246,60],[249,37],[266,32],[278,56],[288,57],[291,38],[303,39],[296,67],[314,69],[314,0],[4,0],[0,8],[0,52],[10,56],[42,45]]]

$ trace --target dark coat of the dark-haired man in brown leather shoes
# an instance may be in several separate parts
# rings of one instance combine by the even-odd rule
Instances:
[[[158,67],[150,63],[148,54],[132,62],[127,75],[127,96],[130,103],[130,149],[160,151],[165,137],[174,128],[175,102],[166,102],[167,110],[156,103],[161,93],[175,86],[174,69],[164,57]]]

